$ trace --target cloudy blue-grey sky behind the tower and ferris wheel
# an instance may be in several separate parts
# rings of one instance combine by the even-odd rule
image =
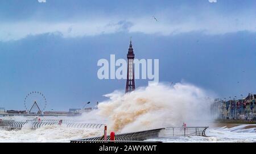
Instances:
[[[216,97],[256,93],[256,1],[0,1],[0,107],[23,110],[42,91],[47,110],[81,108],[125,90],[99,80],[97,61],[159,59],[160,82],[185,81]],[[153,18],[158,20],[156,20]],[[147,86],[147,80],[136,80]],[[88,105],[89,106],[89,105]]]

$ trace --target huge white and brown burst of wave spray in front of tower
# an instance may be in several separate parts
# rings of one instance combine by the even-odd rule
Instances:
[[[158,84],[127,94],[114,91],[105,96],[110,100],[98,105],[98,114],[108,118],[109,131],[181,127],[183,122],[192,126],[210,118],[212,99],[204,90],[190,84]]]

